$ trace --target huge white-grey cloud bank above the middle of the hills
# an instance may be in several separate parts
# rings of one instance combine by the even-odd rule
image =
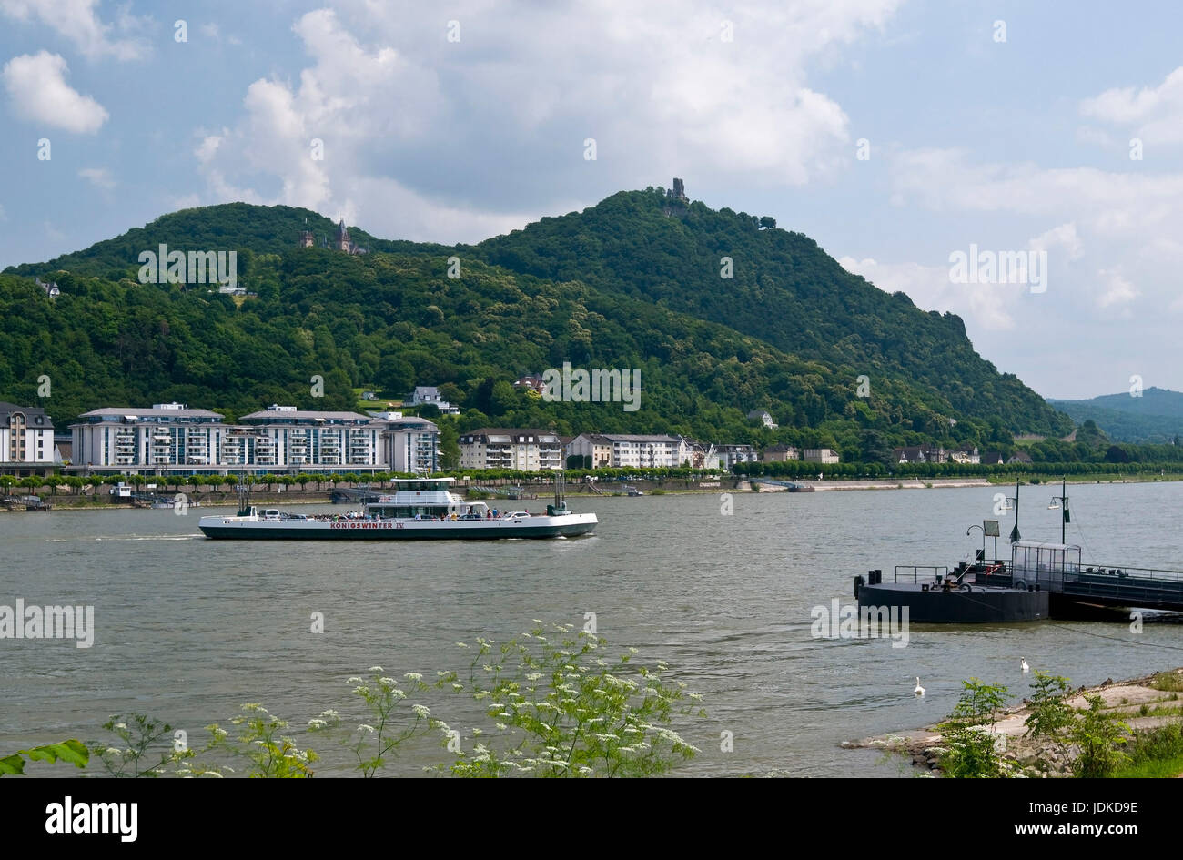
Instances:
[[[807,67],[881,27],[898,5],[724,15],[696,0],[671,28],[659,5],[529,6],[508,17],[460,0],[441,18],[345,0],[296,20],[309,56],[298,80],[256,80],[240,121],[196,155],[219,199],[353,207],[370,229],[448,243],[522,226],[524,214],[489,211],[510,199],[537,212],[556,196],[586,203],[605,188],[707,173],[801,185],[853,154],[849,119],[808,84]],[[724,18],[733,41],[720,38]],[[459,43],[447,40],[447,19],[460,21]],[[587,137],[594,162],[583,159]],[[323,161],[310,157],[313,138]],[[371,188],[422,208],[395,211]],[[424,224],[466,232],[424,235]]]

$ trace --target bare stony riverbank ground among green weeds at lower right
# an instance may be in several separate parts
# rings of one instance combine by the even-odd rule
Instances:
[[[1125,723],[1129,733],[1137,737],[1183,723],[1181,691],[1183,691],[1183,668],[1176,668],[1132,680],[1107,679],[1094,687],[1081,686],[1065,699],[1065,704],[1078,712],[1084,712],[1088,710],[1088,698],[1100,697],[1101,712],[1108,718]],[[1058,743],[1055,739],[1027,737],[1027,720],[1032,712],[1030,703],[1024,698],[1023,704],[1006,709],[995,722],[984,726],[984,731],[995,737],[995,750],[1011,762],[1022,776],[1036,778],[1072,776],[1072,764],[1080,752],[1079,748]],[[910,758],[914,768],[939,776],[940,759],[946,751],[944,743],[939,726],[931,725],[861,741],[847,741],[841,745],[843,749],[880,749],[897,754]],[[1150,759],[1130,767],[1126,771],[1119,770],[1113,776],[1134,776],[1142,771],[1156,770],[1169,771],[1158,772],[1159,776],[1183,776],[1183,763],[1176,770],[1174,762],[1177,759],[1176,752],[1157,762],[1159,765],[1166,765],[1165,768],[1146,767],[1155,761]]]

